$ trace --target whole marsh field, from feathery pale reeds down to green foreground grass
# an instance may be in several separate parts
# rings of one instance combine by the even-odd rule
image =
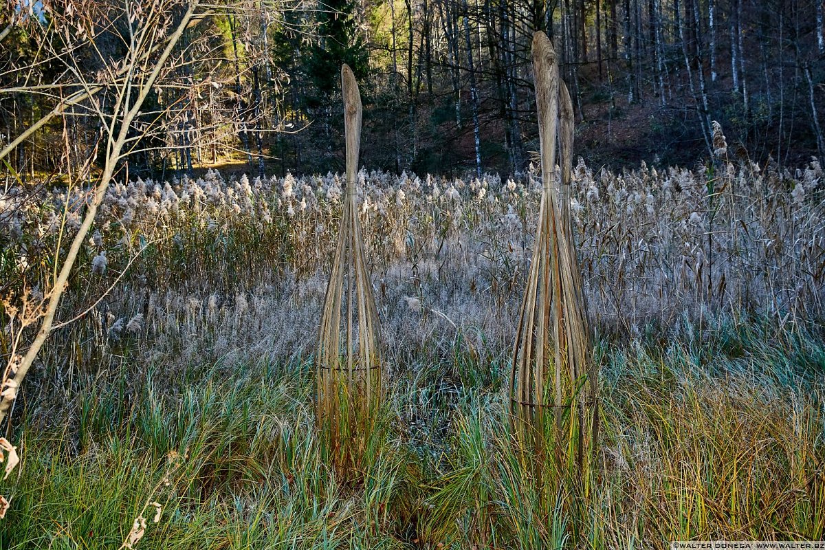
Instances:
[[[535,171],[358,173],[391,383],[357,483],[313,429],[346,179],[112,186],[56,322],[82,315],[16,404],[22,462],[4,482],[0,545],[116,548],[148,496],[162,515],[138,548],[825,538],[822,170],[719,154],[694,170],[571,171],[603,407],[575,506],[567,470],[551,463],[558,481],[537,486],[504,440]],[[0,353],[7,296],[47,288],[86,196],[4,191]],[[172,451],[186,460],[155,494]]]

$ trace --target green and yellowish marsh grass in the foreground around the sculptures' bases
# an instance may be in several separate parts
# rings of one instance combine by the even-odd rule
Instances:
[[[7,480],[0,544],[120,545],[176,449],[188,449],[186,461],[137,548],[820,539],[825,347],[816,330],[777,328],[757,317],[685,327],[681,341],[601,341],[604,446],[581,486],[562,460],[536,481],[507,436],[506,383],[468,374],[453,390],[418,369],[399,373],[380,409],[386,430],[353,483],[323,458],[306,360],[233,365],[232,376],[228,365],[196,364],[175,379],[125,368],[89,385],[51,427],[20,425],[24,462]],[[445,358],[431,342],[416,359],[486,372],[455,346]],[[413,413],[425,395],[439,397]]]

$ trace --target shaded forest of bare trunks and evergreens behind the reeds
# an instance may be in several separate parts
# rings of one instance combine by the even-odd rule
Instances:
[[[94,3],[106,11],[106,2]],[[712,120],[735,158],[799,167],[825,153],[819,0],[247,3],[186,31],[175,83],[158,87],[143,107],[163,113],[166,124],[152,120],[163,131],[141,138],[151,143],[134,148],[131,173],[163,179],[233,164],[260,175],[340,170],[342,62],[361,82],[362,165],[521,172],[538,149],[530,73],[538,30],[559,51],[574,97],[576,155],[591,166],[690,166],[713,151]],[[0,21],[3,145],[60,101],[57,93],[30,93],[37,82],[54,89],[61,82],[60,63],[31,63],[48,31],[27,33],[13,21],[26,11],[46,21],[40,6],[9,2]],[[124,54],[119,25],[111,20],[73,51],[86,75]],[[72,108],[8,160],[22,176],[64,172],[101,139],[99,118]]]

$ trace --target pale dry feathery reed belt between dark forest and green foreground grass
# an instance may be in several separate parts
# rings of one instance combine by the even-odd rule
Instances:
[[[503,353],[538,223],[535,172],[518,181],[357,177],[365,256],[384,337],[394,342],[388,373],[413,363],[411,350],[434,333],[445,354],[455,340]],[[694,172],[620,174],[578,162],[571,214],[596,333],[678,339],[685,319],[821,317],[822,177],[816,161],[795,172],[716,160]],[[225,181],[211,171],[112,186],[57,322],[88,313],[53,335],[35,369],[59,367],[63,384],[73,369],[111,369],[135,355],[170,368],[309,355],[344,184],[334,174]],[[60,188],[4,193],[2,297],[24,283],[33,298],[48,288],[54,251],[77,229],[85,197]],[[0,332],[2,350],[9,338]]]

